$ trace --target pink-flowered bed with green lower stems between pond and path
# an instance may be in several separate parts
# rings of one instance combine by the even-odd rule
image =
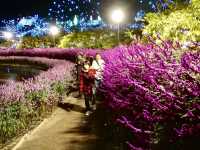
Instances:
[[[0,86],[0,143],[19,134],[31,122],[46,112],[51,112],[70,86],[74,64],[64,60],[28,57],[23,59],[49,65],[50,69],[24,82],[10,82]]]

